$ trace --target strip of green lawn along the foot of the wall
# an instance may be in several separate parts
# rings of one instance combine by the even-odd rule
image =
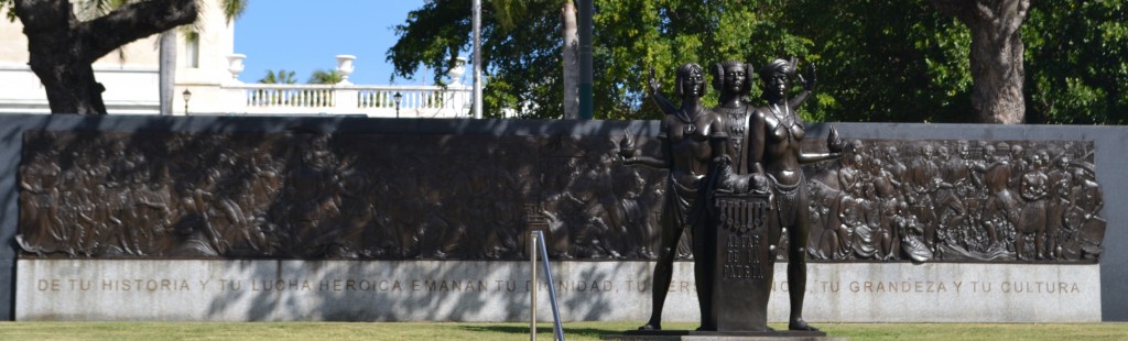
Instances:
[[[637,322],[575,322],[567,340],[599,340]],[[851,340],[1128,340],[1128,323],[819,323],[829,336]],[[667,323],[666,329],[693,329]],[[773,324],[782,329],[785,325]],[[537,325],[552,340],[552,324]],[[344,322],[0,322],[0,340],[528,340],[527,323]]]

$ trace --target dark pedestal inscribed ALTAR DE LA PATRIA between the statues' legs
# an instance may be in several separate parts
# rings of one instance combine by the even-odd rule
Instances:
[[[715,194],[712,314],[719,332],[767,331],[774,244],[767,195]]]

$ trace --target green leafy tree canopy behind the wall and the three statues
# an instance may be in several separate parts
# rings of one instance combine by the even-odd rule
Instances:
[[[483,7],[486,115],[509,108],[522,117],[561,117],[563,2],[511,2]],[[1021,28],[1026,122],[1128,120],[1125,2],[1032,1]],[[663,89],[673,89],[673,70],[682,63],[708,70],[738,60],[758,68],[794,56],[818,65],[819,92],[802,113],[808,119],[976,120],[971,30],[929,0],[594,3],[596,118],[661,117],[645,98],[650,66]],[[473,43],[470,15],[469,0],[430,1],[412,11],[387,54],[396,75],[412,78],[421,63],[440,71],[452,66]],[[754,89],[754,101],[758,93]]]

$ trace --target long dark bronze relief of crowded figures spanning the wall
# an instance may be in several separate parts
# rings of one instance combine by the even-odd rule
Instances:
[[[652,259],[664,188],[663,171],[615,163],[611,135],[24,140],[24,257],[515,260],[526,231],[545,228],[555,258]],[[638,144],[658,154],[655,140]],[[805,169],[810,258],[1095,261],[1105,222],[1093,152],[1070,141],[854,141],[838,162]]]

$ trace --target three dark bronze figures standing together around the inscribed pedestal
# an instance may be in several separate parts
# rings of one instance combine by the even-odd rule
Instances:
[[[769,226],[772,248],[778,246],[786,234],[787,282],[791,300],[790,330],[814,331],[803,321],[803,296],[807,291],[805,246],[810,233],[808,186],[802,165],[838,158],[844,143],[831,128],[829,153],[804,153],[807,135],[802,119],[795,113],[814,90],[813,65],[809,79],[796,72],[794,61],[775,60],[759,70],[764,92],[763,106],[755,106],[747,96],[751,90],[754,68],[741,62],[717,63],[712,69],[712,86],[720,92],[719,106],[705,108],[705,70],[697,64],[678,68],[676,92],[681,98],[677,107],[663,98],[660,83],[651,71],[650,90],[666,111],[659,140],[661,155],[640,155],[637,151],[620,151],[624,164],[643,164],[669,171],[666,201],[662,205],[661,241],[654,266],[653,305],[650,321],[640,330],[661,330],[662,308],[671,281],[672,262],[678,239],[685,228],[693,232],[695,253],[694,278],[702,311],[702,331],[716,330],[713,316],[712,268],[703,266],[711,252],[706,232],[716,223],[706,214],[706,194],[715,190],[744,190],[767,194],[775,226]],[[802,84],[802,92],[788,98],[792,82]],[[724,172],[719,170],[723,169]],[[773,254],[775,252],[773,251]]]

